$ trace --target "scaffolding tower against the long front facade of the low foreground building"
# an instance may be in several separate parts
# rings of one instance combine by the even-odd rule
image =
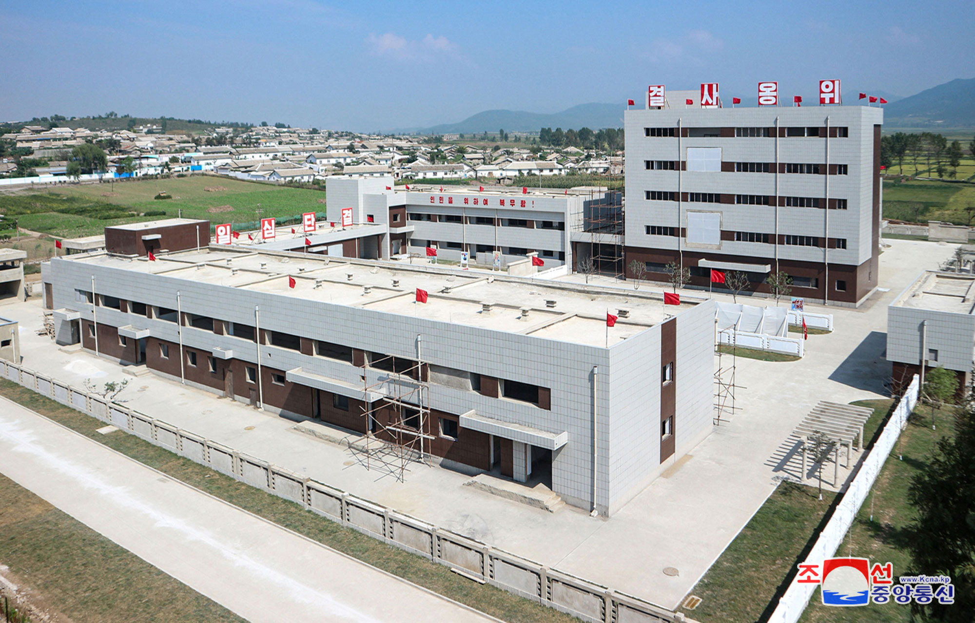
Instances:
[[[436,439],[430,434],[429,368],[418,356],[413,361],[394,355],[373,359],[370,366],[388,374],[373,384],[363,376],[366,434],[350,449],[366,469],[384,470],[404,482],[411,463],[430,464],[430,442]],[[370,393],[381,397],[370,401]]]

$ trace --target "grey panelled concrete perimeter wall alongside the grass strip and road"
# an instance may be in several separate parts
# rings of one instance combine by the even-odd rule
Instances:
[[[456,569],[474,581],[487,582],[584,621],[660,623],[682,620],[664,607],[437,528],[23,366],[0,360],[0,377],[252,487],[290,499],[342,526]]]

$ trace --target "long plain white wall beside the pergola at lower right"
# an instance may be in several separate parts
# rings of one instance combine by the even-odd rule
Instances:
[[[874,448],[864,458],[856,476],[853,477],[846,489],[846,493],[839,500],[836,510],[833,511],[833,517],[826,524],[826,528],[819,533],[816,544],[812,546],[812,550],[805,559],[806,563],[821,565],[823,559],[836,554],[843,536],[853,524],[853,520],[860,510],[860,506],[867,499],[867,495],[870,494],[880,469],[883,467],[883,462],[893,450],[897,438],[907,425],[908,416],[914,411],[917,404],[918,386],[919,382],[917,375],[915,375],[911,385],[908,386],[907,391],[901,397],[901,401],[897,404],[897,408],[894,409],[894,413],[890,416],[890,420],[887,421],[887,425],[883,427]],[[812,597],[816,586],[817,584],[793,582],[786,589],[785,595],[779,600],[779,604],[775,606],[775,611],[769,617],[768,623],[796,623],[799,621],[802,611],[809,604],[809,598]]]

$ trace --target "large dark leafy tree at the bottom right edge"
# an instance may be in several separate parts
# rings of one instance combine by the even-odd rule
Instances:
[[[933,372],[933,371],[932,371]],[[925,384],[926,385],[926,384]],[[975,612],[975,403],[956,412],[955,436],[942,437],[908,489],[915,522],[904,539],[910,572],[949,575],[955,604],[916,605],[922,620],[961,623]]]

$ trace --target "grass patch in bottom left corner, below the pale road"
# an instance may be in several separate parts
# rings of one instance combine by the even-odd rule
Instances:
[[[3,475],[0,563],[77,623],[244,620]]]

